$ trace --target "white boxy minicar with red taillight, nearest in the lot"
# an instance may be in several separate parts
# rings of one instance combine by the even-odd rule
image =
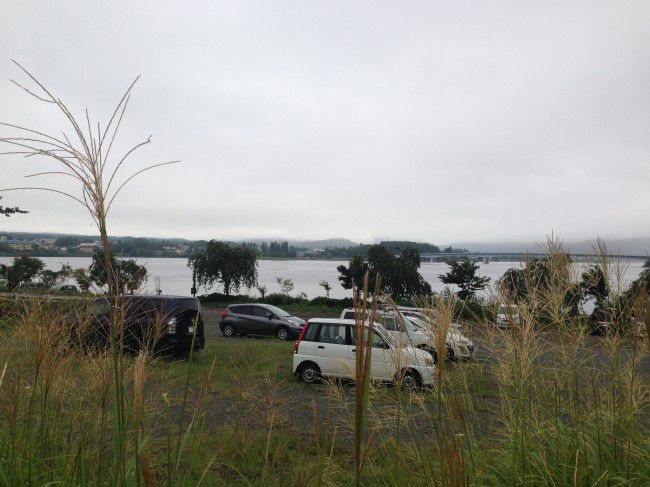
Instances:
[[[369,325],[366,325],[368,328]],[[355,321],[310,319],[294,348],[293,373],[307,383],[321,377],[354,379],[356,371]],[[431,355],[413,347],[400,347],[381,327],[373,326],[370,378],[417,388],[433,384]]]

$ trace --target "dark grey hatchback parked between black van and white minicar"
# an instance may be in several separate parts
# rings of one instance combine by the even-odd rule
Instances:
[[[226,337],[269,335],[289,340],[300,335],[305,320],[270,304],[231,304],[221,315],[219,328]]]

